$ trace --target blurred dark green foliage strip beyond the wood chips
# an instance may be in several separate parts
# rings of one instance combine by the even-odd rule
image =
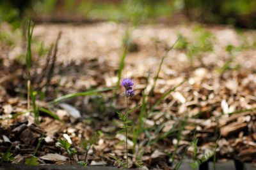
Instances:
[[[0,20],[19,27],[20,18],[35,22],[197,21],[256,28],[255,0],[0,0]]]

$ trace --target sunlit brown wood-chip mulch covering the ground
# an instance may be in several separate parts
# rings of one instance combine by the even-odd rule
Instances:
[[[6,27],[1,29],[6,29]],[[154,97],[148,100],[148,104],[156,103],[157,99],[169,89],[177,85],[179,87],[175,89],[175,92],[164,97],[163,102],[150,114],[148,113],[148,117],[145,117],[145,127],[151,129],[150,137],[147,134],[140,136],[140,145],[136,145],[136,152],[133,155],[132,135],[130,134],[129,148],[133,164],[143,162],[148,167],[164,168],[170,161],[168,154],[175,151],[178,155],[182,155],[186,147],[188,147],[186,155],[192,155],[189,146],[193,139],[193,132],[195,132],[196,138],[200,139],[198,143],[199,157],[202,153],[212,153],[216,139],[218,139],[216,138],[217,134],[217,137],[221,135],[217,147],[220,158],[255,162],[256,31],[239,31],[228,26],[198,24],[152,24],[138,27],[128,27],[115,22],[36,25],[33,37],[39,44],[44,42],[46,48],[56,41],[58,33],[61,32],[56,57],[58,68],[51,80],[49,91],[52,93],[49,94],[48,99],[71,92],[81,92],[92,87],[114,87],[118,80],[117,71],[127,29],[131,32],[129,42],[132,47],[125,59],[123,77],[133,78],[136,83],[136,96],[131,99],[129,104],[131,108],[141,103],[142,90],[145,89],[145,92],[148,93],[154,85],[154,76],[161,58],[165,55],[166,50],[177,41],[179,34],[186,38],[188,44],[212,45],[212,50],[205,50],[207,47],[198,47],[199,52],[193,53],[191,58],[188,56],[189,45],[184,48],[175,47],[167,53],[156,83]],[[209,34],[211,34],[210,38],[204,39]],[[24,73],[24,67],[10,68],[10,66],[15,66],[13,60],[17,59],[17,55],[24,52],[21,44],[22,41],[17,40],[15,45],[10,48],[1,45],[3,51],[0,54],[3,60],[1,73],[4,75],[0,78],[0,87],[3,89],[0,94],[4,96],[0,100],[2,118],[24,111],[27,107],[26,98],[17,95],[22,91],[19,90],[22,86],[19,85],[19,76]],[[228,52],[228,47],[233,50]],[[39,60],[42,63],[33,69],[35,73],[42,72],[42,66],[45,63],[44,58]],[[15,72],[18,78],[8,78]],[[181,82],[183,83],[180,85]],[[39,84],[40,82],[35,84],[35,87]],[[10,90],[10,87],[13,89]],[[15,91],[14,95],[11,93],[13,91]],[[63,133],[67,133],[74,143],[78,143],[81,138],[88,138],[93,131],[100,129],[103,134],[97,145],[93,146],[89,152],[88,160],[90,164],[108,162],[108,164],[117,166],[118,162],[111,159],[108,154],[111,153],[120,158],[125,155],[122,142],[124,135],[116,131],[120,127],[116,111],[122,111],[125,108],[122,90],[120,89],[118,92],[120,95],[114,99],[114,102],[112,101],[114,108],[109,106],[111,96],[113,96],[111,92],[103,94],[101,98],[86,96],[68,101],[68,106],[76,108],[81,113],[83,120],[72,118],[68,114],[70,110],[67,107],[47,106],[45,102],[38,101],[42,106],[51,108],[66,122],[63,124],[49,117],[40,119],[41,124],[36,128],[53,139],[52,143],[45,141],[45,148],[38,153],[38,157],[42,159],[41,163],[60,164],[63,162],[60,158],[49,160],[44,157],[48,153],[64,154],[55,146],[56,139],[60,138]],[[100,102],[100,100],[102,101]],[[100,110],[99,103],[104,103],[105,107],[110,109]],[[140,110],[131,113],[131,119],[134,122],[138,120],[139,113]],[[168,134],[172,134],[172,129],[179,129],[177,122],[182,118],[186,118],[187,124],[175,149],[177,137]],[[20,124],[11,127],[9,125],[28,120],[27,123],[22,124],[30,127],[33,122],[33,117],[29,114],[22,115],[17,119],[1,121],[1,128],[8,129],[6,133],[3,130],[2,135],[10,138],[12,142],[16,140],[12,136],[13,129],[19,127]],[[161,135],[165,134],[167,136],[163,138]],[[27,139],[22,136],[19,138],[17,138],[17,143],[21,145],[20,148],[26,148]],[[150,140],[156,141],[156,143],[146,145]],[[33,142],[35,141],[31,141],[31,144],[35,145]],[[17,146],[19,145],[17,144]],[[22,152],[20,148],[15,149],[14,162],[19,162],[20,157],[29,155],[29,152]],[[136,154],[140,152],[139,148],[143,148],[143,156],[140,157],[140,161],[136,160]],[[1,152],[4,149],[6,147],[2,147]],[[79,151],[79,153],[81,154],[78,154],[76,160],[83,157],[83,151]],[[177,156],[177,159],[180,157]]]

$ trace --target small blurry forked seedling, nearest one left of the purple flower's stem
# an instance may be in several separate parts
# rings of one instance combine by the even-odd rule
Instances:
[[[86,164],[87,155],[88,155],[88,152],[89,152],[90,148],[92,147],[92,145],[97,143],[98,140],[99,140],[99,132],[94,132],[92,134],[92,136],[88,140],[87,139],[83,139],[81,141],[80,145],[85,150],[85,155],[84,155],[84,163],[85,164]]]

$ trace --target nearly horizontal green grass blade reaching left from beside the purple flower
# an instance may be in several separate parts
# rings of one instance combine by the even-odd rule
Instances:
[[[58,97],[57,99],[54,99],[53,101],[49,102],[48,104],[60,103],[61,101],[65,101],[67,99],[72,99],[74,97],[79,97],[79,96],[93,96],[93,95],[98,94],[100,92],[106,92],[106,91],[114,90],[114,89],[115,88],[113,88],[113,87],[109,87],[109,88],[104,88],[104,89],[93,89],[93,90],[87,90],[85,92],[67,94],[65,96],[61,96],[61,97]]]

